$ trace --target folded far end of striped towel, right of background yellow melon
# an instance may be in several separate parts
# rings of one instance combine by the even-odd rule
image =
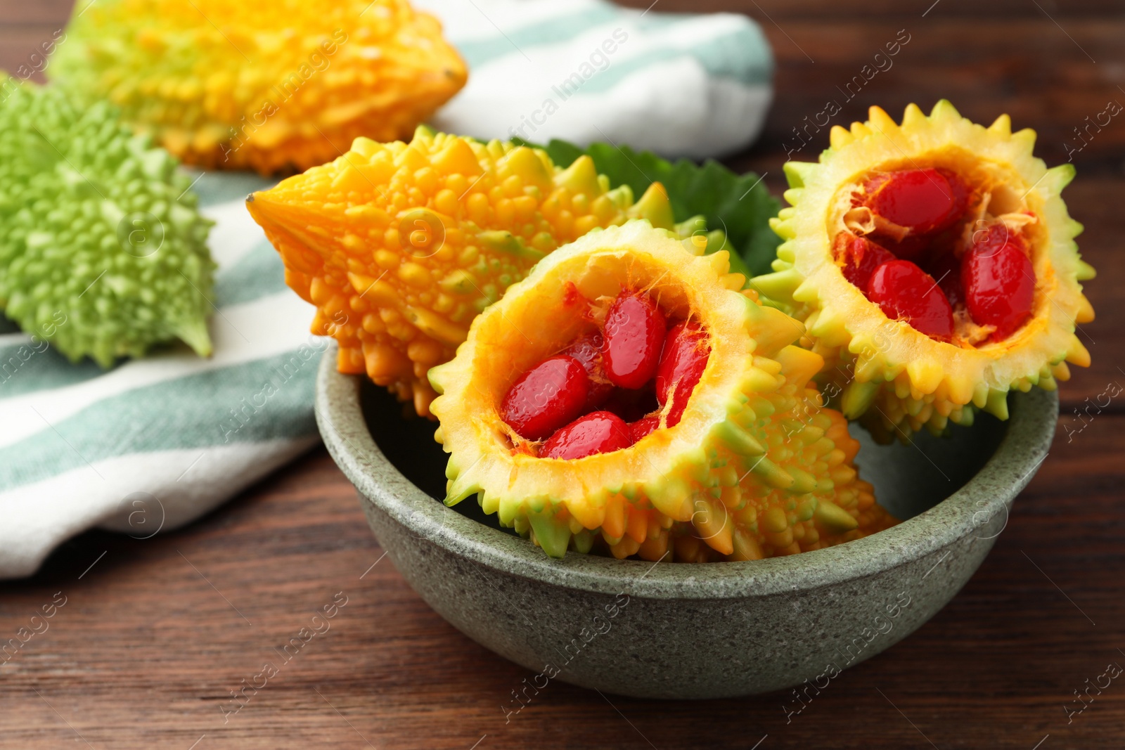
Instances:
[[[441,19],[469,64],[468,84],[433,121],[449,133],[702,159],[748,145],[770,106],[773,57],[746,16],[604,0],[414,4]]]

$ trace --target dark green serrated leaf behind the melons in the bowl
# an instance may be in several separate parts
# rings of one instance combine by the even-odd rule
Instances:
[[[519,139],[518,139],[519,141]],[[650,152],[629,146],[595,143],[583,151],[566,141],[551,141],[543,148],[559,166],[569,166],[583,154],[594,160],[598,174],[614,188],[628,184],[638,198],[652,182],[668,191],[676,222],[694,216],[706,218],[709,229],[722,229],[736,252],[754,274],[768,273],[781,240],[770,228],[781,204],[770,195],[753,172],[735,174],[722,164],[708,160],[702,165],[686,159],[673,163]]]

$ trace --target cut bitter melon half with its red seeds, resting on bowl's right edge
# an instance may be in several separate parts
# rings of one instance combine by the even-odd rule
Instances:
[[[1033,156],[1007,115],[975,125],[947,101],[901,125],[878,107],[831,130],[819,162],[788,162],[774,273],[754,288],[808,326],[806,345],[850,418],[882,440],[974,409],[1007,418],[1009,390],[1086,367],[1078,324],[1094,278],[1060,193],[1070,164]]]

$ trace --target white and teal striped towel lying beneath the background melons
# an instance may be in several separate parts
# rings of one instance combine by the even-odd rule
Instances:
[[[449,132],[714,156],[749,143],[770,101],[770,51],[741,16],[600,0],[418,4],[470,65],[433,121]],[[146,537],[188,523],[317,442],[325,342],[307,333],[312,307],[245,210],[263,187],[205,173],[195,188],[217,223],[210,359],[181,346],[102,371],[0,318],[0,578],[30,575],[88,528]]]

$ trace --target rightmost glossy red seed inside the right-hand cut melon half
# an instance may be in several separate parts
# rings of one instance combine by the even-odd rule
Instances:
[[[965,306],[978,325],[993,325],[992,341],[1016,332],[1032,314],[1035,272],[1018,235],[1002,225],[979,233],[961,264]]]

